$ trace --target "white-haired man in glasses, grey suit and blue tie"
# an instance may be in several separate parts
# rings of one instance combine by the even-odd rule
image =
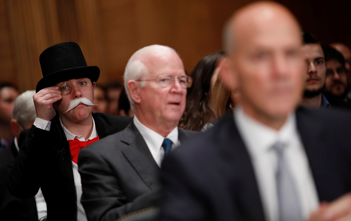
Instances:
[[[155,206],[164,155],[189,138],[178,129],[191,79],[174,49],[151,45],[135,52],[124,73],[133,121],[80,152],[82,205],[88,220],[115,220]]]

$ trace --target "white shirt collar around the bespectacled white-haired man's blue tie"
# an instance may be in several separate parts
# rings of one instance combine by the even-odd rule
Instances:
[[[159,133],[153,131],[152,129],[146,127],[143,125],[137,118],[137,116],[134,115],[133,118],[133,123],[135,127],[139,130],[141,136],[143,136],[146,144],[148,145],[148,148],[150,150],[153,150],[152,152],[158,152],[162,146],[162,143],[164,141],[164,137],[160,135]],[[166,138],[170,139],[174,145],[178,146],[179,141],[178,141],[178,127],[175,127],[167,136]],[[150,145],[149,145],[150,144]]]

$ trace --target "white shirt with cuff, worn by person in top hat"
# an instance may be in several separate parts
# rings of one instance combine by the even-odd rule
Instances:
[[[34,126],[45,130],[50,130],[51,121],[36,118],[34,121]],[[62,124],[62,122],[61,122],[61,127],[64,130],[67,140],[74,140],[74,138],[77,138],[80,141],[86,141],[84,136],[74,135],[71,132],[69,132],[69,130],[67,130],[67,128]],[[98,133],[96,131],[95,121],[93,118],[93,131],[87,140],[92,140],[97,136],[98,136]],[[77,197],[77,221],[87,221],[85,210],[80,202],[80,198],[82,196],[82,182],[80,179],[80,174],[78,172],[78,164],[72,161],[72,168],[73,168],[75,193]]]

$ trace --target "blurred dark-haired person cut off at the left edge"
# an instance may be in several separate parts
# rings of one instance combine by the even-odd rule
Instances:
[[[11,143],[10,121],[18,90],[9,83],[0,83],[0,151]]]

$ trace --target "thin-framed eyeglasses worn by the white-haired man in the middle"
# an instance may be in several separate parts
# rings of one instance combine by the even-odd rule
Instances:
[[[161,87],[170,87],[170,86],[173,86],[176,78],[178,79],[181,87],[183,88],[191,87],[193,80],[191,76],[188,76],[188,75],[179,75],[179,76],[160,75],[158,78],[155,78],[155,79],[140,79],[137,81],[156,81]]]

